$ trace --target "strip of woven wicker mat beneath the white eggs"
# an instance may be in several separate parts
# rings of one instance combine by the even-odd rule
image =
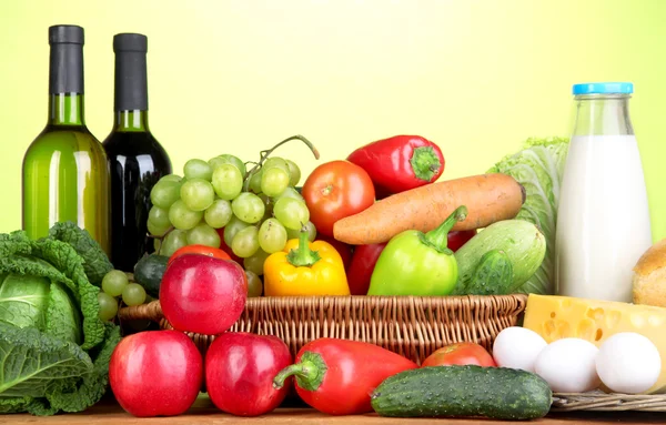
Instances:
[[[666,395],[629,395],[591,393],[555,393],[552,412],[597,411],[597,412],[666,412]]]

